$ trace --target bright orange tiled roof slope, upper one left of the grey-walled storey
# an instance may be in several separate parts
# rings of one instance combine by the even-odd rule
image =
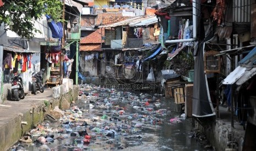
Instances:
[[[99,44],[101,42],[104,42],[101,40],[101,36],[105,35],[105,30],[102,28],[102,35],[101,35],[101,29],[96,30],[95,32],[92,32],[86,37],[81,38],[80,43],[81,44]]]

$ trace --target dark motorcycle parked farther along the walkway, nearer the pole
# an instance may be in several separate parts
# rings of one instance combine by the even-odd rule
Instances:
[[[31,91],[32,91],[32,94],[35,94],[36,95],[36,92],[37,91],[40,91],[41,93],[43,93],[43,91],[45,91],[43,89],[43,78],[42,78],[42,75],[43,73],[45,73],[45,69],[41,69],[40,72],[38,73],[32,73],[32,85],[31,85]]]

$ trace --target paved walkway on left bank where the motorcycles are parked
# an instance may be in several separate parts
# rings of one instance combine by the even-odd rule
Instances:
[[[45,89],[45,92],[39,94],[26,94],[20,101],[7,100],[0,104],[0,127],[17,117],[20,113],[28,112],[32,106],[41,104],[43,100],[52,98],[52,89]]]

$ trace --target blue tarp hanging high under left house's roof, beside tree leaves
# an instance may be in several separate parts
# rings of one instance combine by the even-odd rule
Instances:
[[[46,15],[46,19],[47,21],[49,19],[51,19],[50,15]],[[52,38],[59,38],[61,39],[63,36],[63,28],[62,28],[62,24],[61,22],[55,22],[55,21],[51,21],[48,22],[48,26],[50,27],[51,31],[52,31]]]

